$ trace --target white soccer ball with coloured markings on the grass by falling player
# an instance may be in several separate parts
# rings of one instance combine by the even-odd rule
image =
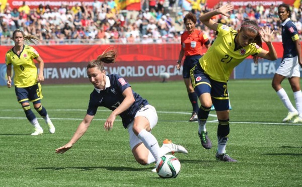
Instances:
[[[156,162],[156,172],[162,178],[175,178],[180,171],[180,162],[173,155],[166,154]]]

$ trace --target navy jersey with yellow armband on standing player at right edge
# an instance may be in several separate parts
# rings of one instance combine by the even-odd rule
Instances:
[[[282,23],[282,45],[283,58],[292,58],[297,56],[296,47],[293,41],[298,40],[298,32],[296,26],[288,18]]]

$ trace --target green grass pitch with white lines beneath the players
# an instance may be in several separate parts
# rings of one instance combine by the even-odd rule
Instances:
[[[131,83],[159,116],[153,134],[181,144],[176,153],[182,168],[177,178],[162,179],[154,164],[139,165],[129,149],[128,133],[117,117],[113,129],[103,129],[110,111],[99,108],[86,134],[64,154],[55,149],[69,141],[84,118],[93,85],[43,85],[42,104],[55,134],[49,134],[36,111],[44,134],[33,128],[16,101],[14,88],[0,87],[0,186],[302,186],[302,124],[284,124],[287,111],[271,80],[230,80],[230,139],[226,147],[238,163],[216,161],[215,112],[207,123],[213,148],[201,147],[198,124],[188,122],[191,105],[183,81]],[[291,101],[293,94],[284,80]],[[32,107],[32,105],[31,105]],[[33,107],[32,107],[33,109]]]

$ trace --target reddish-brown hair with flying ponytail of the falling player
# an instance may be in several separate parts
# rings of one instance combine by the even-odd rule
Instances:
[[[97,59],[92,60],[88,63],[87,69],[97,67],[100,71],[104,70],[104,63],[111,64],[116,61],[116,50],[111,49],[112,47],[107,48],[103,54],[99,55]]]

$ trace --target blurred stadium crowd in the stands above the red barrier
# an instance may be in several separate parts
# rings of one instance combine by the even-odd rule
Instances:
[[[182,1],[175,3],[170,0],[169,7],[164,6],[164,1],[149,0],[148,5],[142,8],[143,11],[119,11],[114,0],[94,0],[91,7],[80,3],[58,8],[49,5],[31,8],[24,2],[19,8],[11,8],[6,4],[0,13],[1,44],[13,45],[11,37],[15,29],[39,37],[39,44],[45,45],[180,43],[180,35],[185,30],[183,17],[188,11],[182,10]],[[222,2],[213,9],[221,5]],[[193,0],[191,11],[197,17],[210,10],[206,1]],[[301,12],[302,6],[293,9],[291,17],[299,31],[300,40]],[[281,41],[280,20],[275,6],[265,8],[263,5],[253,7],[249,4],[232,11],[230,17],[216,16],[213,19],[236,29],[245,20],[255,20],[259,26],[269,26],[275,30],[274,41]],[[212,40],[215,33],[197,22],[196,28],[204,31]]]

